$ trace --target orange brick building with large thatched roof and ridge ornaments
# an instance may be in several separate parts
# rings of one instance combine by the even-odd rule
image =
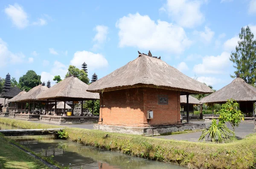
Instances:
[[[181,73],[160,57],[152,56],[150,51],[139,52],[139,57],[93,82],[87,91],[100,94],[97,129],[113,132],[142,129],[142,132],[130,132],[134,134],[145,134],[151,126],[181,125],[180,95],[186,95],[189,104],[190,94],[212,93],[208,86]],[[164,132],[163,128],[157,131]]]

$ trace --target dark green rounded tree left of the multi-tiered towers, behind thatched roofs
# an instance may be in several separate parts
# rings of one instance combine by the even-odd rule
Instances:
[[[17,87],[28,92],[30,89],[38,86],[39,84],[41,84],[41,76],[37,75],[35,71],[29,70],[26,72],[26,74],[20,77]]]

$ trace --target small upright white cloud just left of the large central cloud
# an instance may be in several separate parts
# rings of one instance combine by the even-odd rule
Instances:
[[[93,38],[93,41],[96,42],[93,45],[93,49],[98,49],[107,40],[108,26],[98,25],[94,28],[94,30],[96,30],[97,33]]]

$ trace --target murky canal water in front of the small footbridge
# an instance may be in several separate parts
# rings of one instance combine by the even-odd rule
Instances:
[[[167,163],[131,157],[67,140],[55,140],[50,136],[10,137],[44,156],[72,169],[185,169]]]

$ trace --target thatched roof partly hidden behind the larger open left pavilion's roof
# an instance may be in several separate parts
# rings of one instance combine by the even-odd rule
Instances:
[[[19,101],[29,101],[29,100],[38,100],[36,97],[46,91],[49,90],[47,86],[42,86],[42,84],[35,86],[34,88],[30,89],[29,92],[21,95],[19,98],[16,99],[17,102]]]

